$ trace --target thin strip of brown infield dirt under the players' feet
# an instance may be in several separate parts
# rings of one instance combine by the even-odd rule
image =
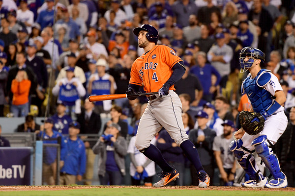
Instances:
[[[161,188],[145,187],[145,186],[0,186],[1,191],[59,191],[70,189],[111,189],[111,188],[142,188],[142,189],[201,189],[197,186],[166,186]],[[273,192],[295,192],[295,188],[285,189],[253,189],[242,187],[208,187],[207,190],[220,190],[220,191],[273,191]]]

